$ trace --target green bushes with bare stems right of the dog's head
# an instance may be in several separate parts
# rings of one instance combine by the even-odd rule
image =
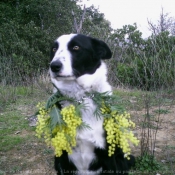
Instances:
[[[167,88],[174,85],[175,37],[168,32],[143,40],[135,26],[124,26],[114,33],[118,59],[116,75],[129,87],[144,90]]]

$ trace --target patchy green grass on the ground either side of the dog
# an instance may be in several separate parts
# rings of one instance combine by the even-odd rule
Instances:
[[[10,95],[14,99],[10,102],[8,102],[10,99],[9,90],[11,90]],[[159,98],[155,98],[157,92],[143,92],[136,89],[115,89],[114,93],[121,97],[119,105],[122,105],[128,111],[135,110],[141,113],[135,116],[136,119],[143,118],[144,113],[142,111],[145,108],[147,98],[150,102],[149,105],[155,107],[153,113],[150,113],[153,120],[157,114],[170,114],[169,109],[158,108],[160,104],[164,106],[173,105],[171,94],[168,94],[166,98],[162,94]],[[13,87],[0,88],[0,95],[3,94],[5,96],[3,100],[2,98],[0,100],[1,103],[3,102],[3,108],[0,109],[0,175],[17,173],[25,175],[28,171],[54,174],[53,150],[35,137],[35,127],[30,127],[27,120],[29,116],[35,113],[36,104],[45,101],[49,95],[45,90],[38,87],[32,87],[32,89],[30,87],[15,87],[14,90]],[[143,123],[137,124],[141,127]],[[167,145],[165,150],[173,152],[174,147],[175,145]],[[161,159],[157,161],[160,163]],[[169,164],[161,164],[161,167],[165,170],[169,167]],[[170,168],[172,169],[172,167]]]

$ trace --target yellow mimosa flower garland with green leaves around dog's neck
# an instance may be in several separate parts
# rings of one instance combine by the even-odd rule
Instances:
[[[86,95],[92,96],[89,93]],[[129,142],[134,145],[139,143],[130,130],[135,127],[130,120],[130,114],[116,104],[118,99],[114,95],[94,92],[92,99],[97,105],[94,117],[104,117],[103,127],[107,133],[108,156],[112,156],[116,147],[120,147],[125,157],[129,159],[131,153]],[[72,104],[60,110],[57,105],[65,100]],[[62,96],[58,91],[48,99],[45,105],[38,103],[37,108],[36,136],[44,138],[46,144],[54,148],[57,157],[60,157],[63,151],[71,154],[72,147],[76,146],[77,130],[90,128],[81,119],[81,109],[86,106],[73,98]]]

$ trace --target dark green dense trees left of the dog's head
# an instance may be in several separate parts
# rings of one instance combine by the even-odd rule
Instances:
[[[50,43],[71,33],[75,8],[71,0],[0,2],[0,79],[18,84],[48,69]]]

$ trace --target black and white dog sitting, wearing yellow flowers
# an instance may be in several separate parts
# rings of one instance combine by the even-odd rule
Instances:
[[[83,99],[88,104],[88,110],[82,110],[82,119],[91,127],[77,131],[77,145],[72,148],[72,154],[64,152],[61,157],[55,157],[55,169],[59,175],[128,174],[127,171],[134,164],[134,157],[125,159],[119,148],[113,156],[108,156],[103,118],[94,117],[96,105],[93,99],[84,98],[85,92],[112,91],[103,62],[111,57],[106,43],[85,35],[62,35],[54,42],[51,81],[63,95]]]

